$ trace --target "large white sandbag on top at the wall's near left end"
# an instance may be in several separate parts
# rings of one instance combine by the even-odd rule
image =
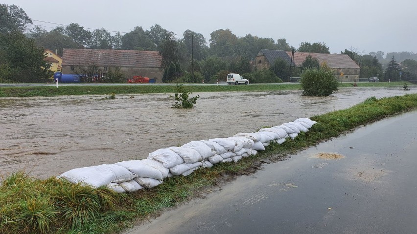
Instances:
[[[64,178],[73,184],[85,184],[94,188],[108,185],[112,182],[120,183],[131,180],[137,175],[126,168],[114,164],[76,168],[64,172],[57,178]]]

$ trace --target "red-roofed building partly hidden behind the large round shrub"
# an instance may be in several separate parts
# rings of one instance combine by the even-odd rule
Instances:
[[[288,56],[291,52],[287,51]],[[333,74],[340,82],[359,81],[359,74],[361,68],[356,64],[347,54],[320,54],[308,52],[295,52],[294,62],[296,66],[300,67],[304,62],[305,57],[311,55],[319,61],[319,64],[324,62],[333,70]]]

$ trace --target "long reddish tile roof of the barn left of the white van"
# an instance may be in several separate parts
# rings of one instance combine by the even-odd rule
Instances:
[[[161,67],[158,51],[115,49],[64,49],[62,65],[88,65],[118,67]]]

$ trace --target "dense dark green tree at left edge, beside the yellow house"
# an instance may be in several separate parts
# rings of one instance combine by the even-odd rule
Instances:
[[[50,64],[44,58],[43,48],[33,39],[13,31],[0,34],[0,77],[14,82],[46,82],[52,76]]]

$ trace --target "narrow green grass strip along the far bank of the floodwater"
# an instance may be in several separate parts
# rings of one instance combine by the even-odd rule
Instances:
[[[359,87],[401,87],[404,82],[357,83]],[[413,86],[407,83],[408,86]],[[298,90],[299,84],[251,84],[251,85],[192,85],[185,86],[190,92],[231,92],[231,91],[274,91]],[[353,87],[353,83],[341,83],[340,87]],[[175,85],[54,85],[48,86],[5,86],[0,87],[0,97],[32,97],[60,95],[107,95],[141,93],[175,93]]]

